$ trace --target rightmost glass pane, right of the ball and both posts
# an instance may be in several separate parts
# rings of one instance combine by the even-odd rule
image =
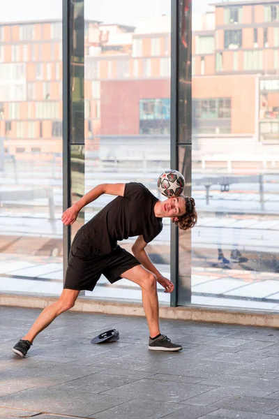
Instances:
[[[193,40],[216,40],[204,74],[193,42],[195,304],[279,307],[277,12],[277,4],[241,1],[193,13]]]

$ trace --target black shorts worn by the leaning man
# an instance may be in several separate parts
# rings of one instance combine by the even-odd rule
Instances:
[[[106,254],[93,247],[77,232],[70,247],[68,268],[63,288],[77,291],[93,291],[101,274],[113,284],[121,274],[140,262],[131,253],[117,246]]]

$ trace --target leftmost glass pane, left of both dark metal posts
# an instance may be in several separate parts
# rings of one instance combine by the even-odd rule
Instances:
[[[59,294],[62,287],[62,2],[42,15],[27,0],[1,10],[0,276],[3,291]],[[31,10],[32,9],[32,10]],[[30,13],[31,12],[31,13]],[[32,17],[30,17],[32,15]],[[53,54],[51,55],[51,51]],[[8,280],[6,279],[8,277]],[[51,281],[51,282],[49,282]]]

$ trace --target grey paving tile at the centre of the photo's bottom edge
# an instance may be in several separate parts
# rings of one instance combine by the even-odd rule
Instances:
[[[135,399],[101,413],[96,413],[93,417],[96,419],[159,419],[180,409],[181,406],[176,403]]]

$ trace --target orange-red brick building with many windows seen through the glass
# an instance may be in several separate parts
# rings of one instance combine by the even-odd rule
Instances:
[[[227,1],[193,15],[193,134],[279,135],[279,1]],[[170,17],[86,22],[86,139],[169,134]],[[10,152],[61,152],[61,22],[0,25],[0,138]],[[242,136],[242,137],[241,137]]]

